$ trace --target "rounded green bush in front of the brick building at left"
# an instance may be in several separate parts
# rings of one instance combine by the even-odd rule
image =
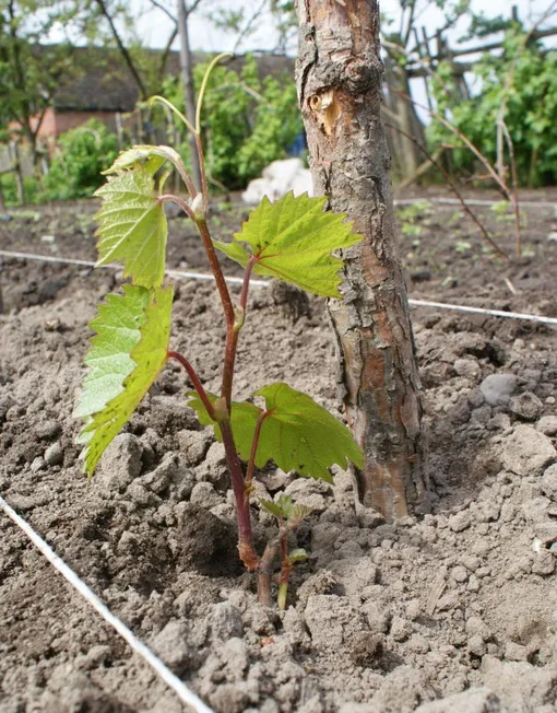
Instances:
[[[97,119],[62,133],[45,186],[50,200],[86,198],[104,183],[100,172],[118,155],[115,133]]]

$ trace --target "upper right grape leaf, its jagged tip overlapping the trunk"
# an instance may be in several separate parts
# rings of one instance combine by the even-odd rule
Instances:
[[[343,266],[333,250],[363,239],[346,215],[323,211],[327,198],[287,194],[274,203],[265,197],[251,211],[232,243],[214,241],[215,247],[246,266],[253,256],[253,271],[324,297],[340,297],[339,270]]]

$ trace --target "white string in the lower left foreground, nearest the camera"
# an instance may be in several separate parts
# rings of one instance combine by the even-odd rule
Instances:
[[[88,604],[107,621],[120,636],[129,644],[143,661],[145,661],[151,668],[153,668],[165,683],[174,690],[178,698],[190,705],[198,713],[214,713],[212,709],[203,703],[203,701],[195,696],[190,689],[167,668],[163,662],[153,654],[153,652],[145,646],[128,627],[122,623],[115,615],[100,601],[97,595],[90,589],[90,587],[80,580],[73,570],[71,570],[63,560],[52,550],[52,548],[42,539],[35,530],[26,523],[17,513],[10,507],[5,500],[0,495],[0,507],[12,519],[17,527],[20,527],[29,540],[35,545],[42,554],[50,562],[50,564],[58,570],[58,572],[81,594],[81,596],[88,601]]]

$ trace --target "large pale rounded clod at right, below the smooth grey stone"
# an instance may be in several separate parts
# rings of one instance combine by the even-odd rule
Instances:
[[[502,443],[503,466],[518,476],[542,475],[555,458],[557,451],[552,441],[531,425],[518,425]]]

